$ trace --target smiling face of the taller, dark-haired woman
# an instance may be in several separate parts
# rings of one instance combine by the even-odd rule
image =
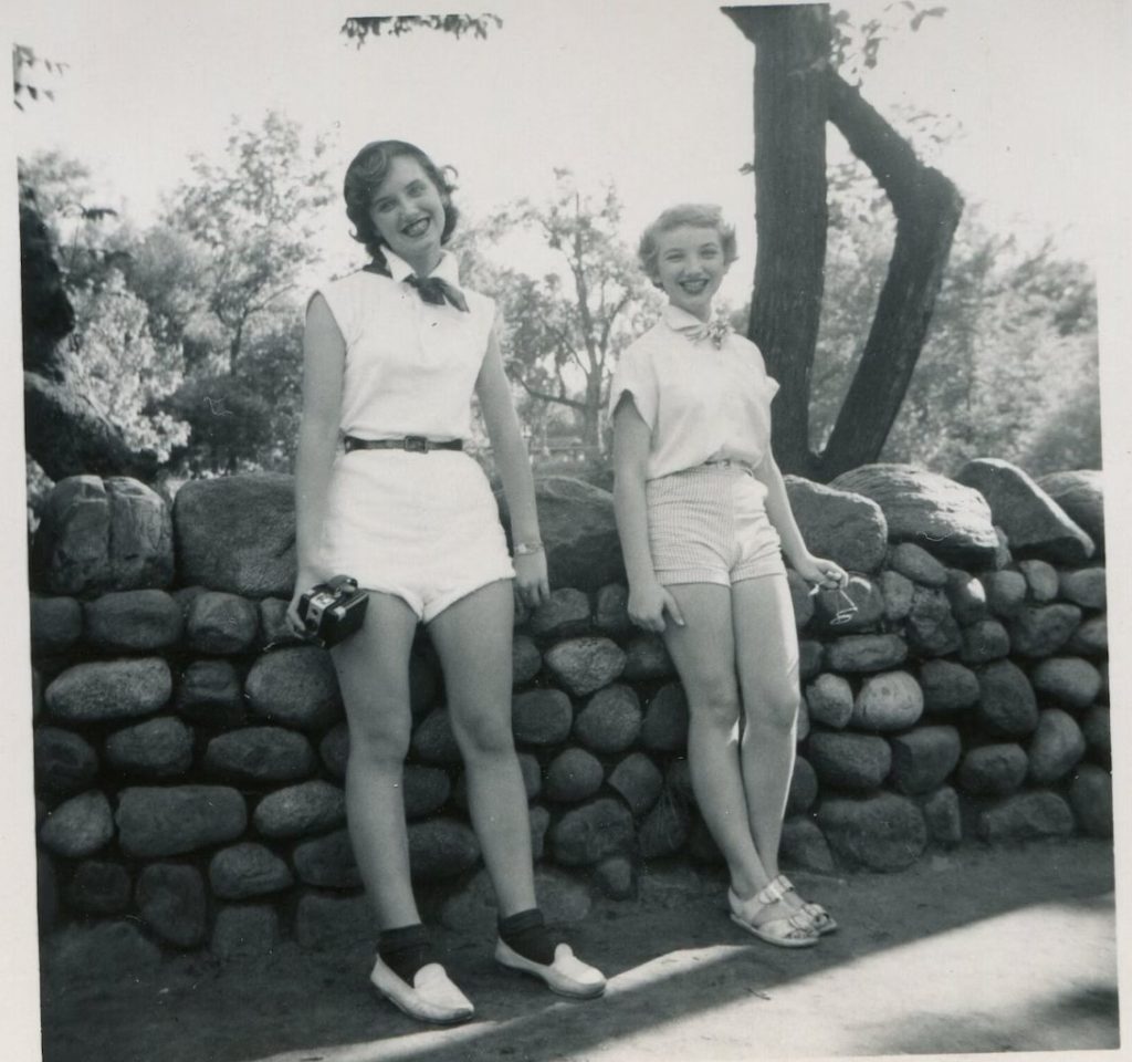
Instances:
[[[398,155],[374,196],[369,216],[389,250],[426,274],[440,260],[444,206],[424,168],[409,155]]]

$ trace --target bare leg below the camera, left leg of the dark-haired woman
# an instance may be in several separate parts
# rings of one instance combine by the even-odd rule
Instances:
[[[420,922],[402,789],[412,734],[409,650],[415,628],[417,615],[404,601],[371,591],[365,626],[331,653],[350,727],[350,840],[383,930]]]

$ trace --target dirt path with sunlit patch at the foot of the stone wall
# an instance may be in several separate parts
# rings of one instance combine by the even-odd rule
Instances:
[[[715,872],[653,867],[568,939],[610,976],[559,1001],[494,968],[483,934],[438,933],[477,1004],[427,1029],[367,987],[370,942],[151,980],[45,967],[45,1062],[723,1062],[774,1055],[1083,1051],[1118,1044],[1112,847],[1074,840],[929,856],[893,875],[795,874],[843,928],[814,949],[752,941]]]

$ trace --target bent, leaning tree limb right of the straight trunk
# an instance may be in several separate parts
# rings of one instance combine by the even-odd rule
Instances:
[[[818,478],[827,481],[881,455],[927,337],[963,200],[856,88],[832,70],[826,83],[830,120],[873,172],[897,215],[868,341],[818,462]]]

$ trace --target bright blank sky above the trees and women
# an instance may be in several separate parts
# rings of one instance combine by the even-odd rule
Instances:
[[[859,20],[884,2],[850,0]],[[674,202],[721,203],[740,237],[723,296],[743,301],[754,265],[753,181],[738,172],[753,151],[753,49],[730,19],[700,0],[487,6],[504,18],[487,41],[418,31],[358,50],[338,33],[357,6],[25,2],[14,40],[69,67],[40,82],[55,89],[53,103],[17,115],[17,151],[77,155],[109,202],[143,223],[190,152],[215,153],[232,114],[254,125],[268,108],[334,135],[335,182],[367,140],[419,143],[460,170],[458,202],[473,217],[541,197],[551,169],[571,166],[583,183],[616,181],[631,241]],[[1113,115],[1126,113],[1116,71],[1127,6],[946,6],[944,18],[883,46],[867,99],[882,113],[903,103],[953,114],[962,134],[936,164],[967,198],[1028,241],[1052,233],[1067,254],[1091,257],[1109,228]],[[327,264],[349,265],[357,247],[337,206],[327,231]]]

